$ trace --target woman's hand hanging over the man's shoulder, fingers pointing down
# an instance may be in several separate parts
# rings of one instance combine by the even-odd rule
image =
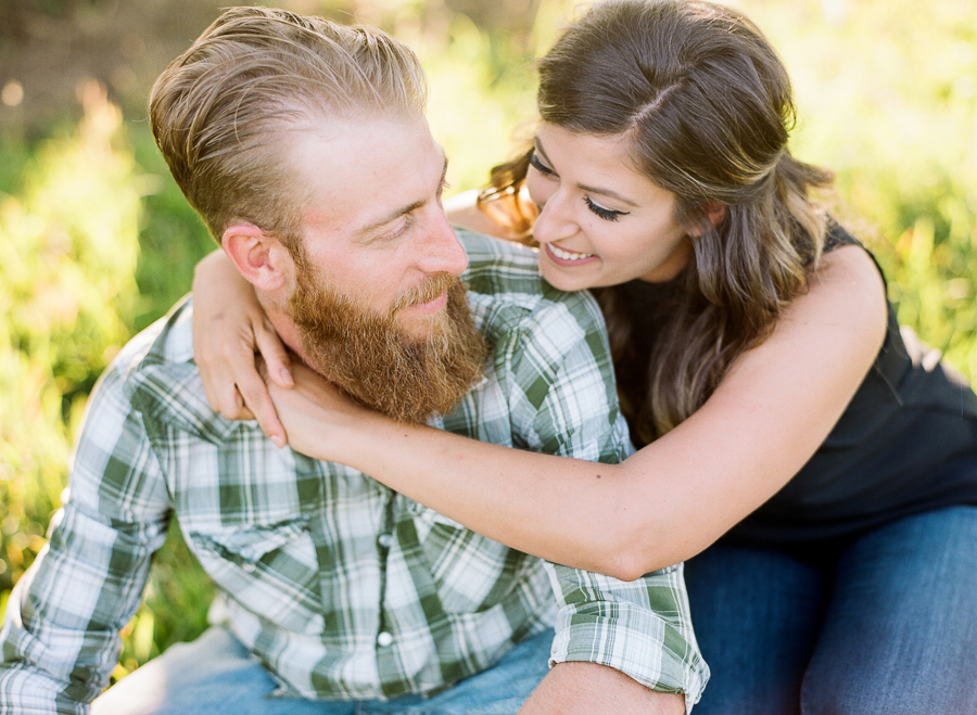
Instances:
[[[284,426],[254,363],[258,353],[275,384],[292,385],[291,361],[251,284],[223,251],[200,261],[193,276],[193,357],[204,394],[228,420],[258,421],[279,447]]]

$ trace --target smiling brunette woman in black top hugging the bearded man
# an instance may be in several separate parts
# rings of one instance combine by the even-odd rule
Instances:
[[[540,74],[533,150],[454,218],[531,230],[548,282],[594,290],[638,451],[391,422],[301,366],[271,385],[292,446],[554,561],[634,578],[690,559],[697,713],[977,712],[977,397],[903,341],[872,257],[809,195],[830,175],[786,149],[773,49],[721,7],[607,2]],[[207,394],[246,414],[229,362],[280,439],[253,348],[280,385],[289,362],[234,278],[215,257],[194,284]]]

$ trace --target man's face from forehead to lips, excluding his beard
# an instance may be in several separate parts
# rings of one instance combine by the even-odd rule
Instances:
[[[468,266],[441,207],[446,161],[427,122],[327,122],[289,141],[308,264],[377,315],[403,304],[397,322],[427,339],[447,297],[430,293],[431,279]]]

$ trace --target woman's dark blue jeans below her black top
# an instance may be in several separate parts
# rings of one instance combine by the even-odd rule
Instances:
[[[977,713],[977,507],[820,557],[721,540],[685,577],[712,669],[695,715]]]

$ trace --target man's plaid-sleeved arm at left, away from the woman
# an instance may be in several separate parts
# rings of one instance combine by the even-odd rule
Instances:
[[[11,593],[0,631],[0,715],[86,713],[139,605],[168,498],[120,371],[89,401],[64,507]]]

